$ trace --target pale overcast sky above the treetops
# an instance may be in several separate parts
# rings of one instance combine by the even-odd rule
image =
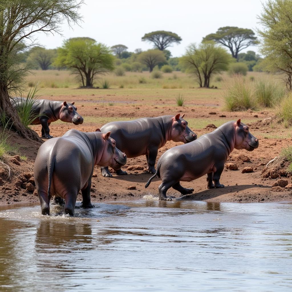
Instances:
[[[168,49],[179,57],[190,43],[199,43],[219,27],[238,26],[255,30],[259,27],[260,0],[85,0],[80,9],[81,27],[70,29],[62,25],[63,37],[58,34],[38,34],[39,43],[56,48],[71,37],[88,36],[107,46],[124,44],[128,51],[147,50],[152,44],[141,41],[145,33],[166,30],[175,32],[183,40]],[[258,51],[257,47],[250,47]]]

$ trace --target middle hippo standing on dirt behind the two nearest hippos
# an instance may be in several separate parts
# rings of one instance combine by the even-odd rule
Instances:
[[[184,114],[175,116],[161,116],[155,118],[142,118],[133,121],[110,122],[100,128],[102,133],[111,132],[111,137],[116,140],[117,147],[128,158],[146,156],[147,171],[155,173],[155,161],[158,149],[167,141],[192,142],[197,135],[187,126],[183,119]],[[127,174],[121,169],[114,169],[117,174]],[[101,167],[105,177],[112,177],[108,167]]]

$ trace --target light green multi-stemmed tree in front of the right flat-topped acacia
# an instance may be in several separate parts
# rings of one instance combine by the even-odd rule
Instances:
[[[226,71],[230,61],[232,58],[224,48],[214,42],[203,42],[198,46],[191,44],[180,64],[186,72],[196,77],[200,87],[208,88],[212,75]]]

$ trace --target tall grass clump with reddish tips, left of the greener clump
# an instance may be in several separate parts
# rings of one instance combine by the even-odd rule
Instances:
[[[240,75],[234,76],[231,84],[225,85],[225,107],[229,111],[246,110],[256,106],[251,84],[246,84]]]

